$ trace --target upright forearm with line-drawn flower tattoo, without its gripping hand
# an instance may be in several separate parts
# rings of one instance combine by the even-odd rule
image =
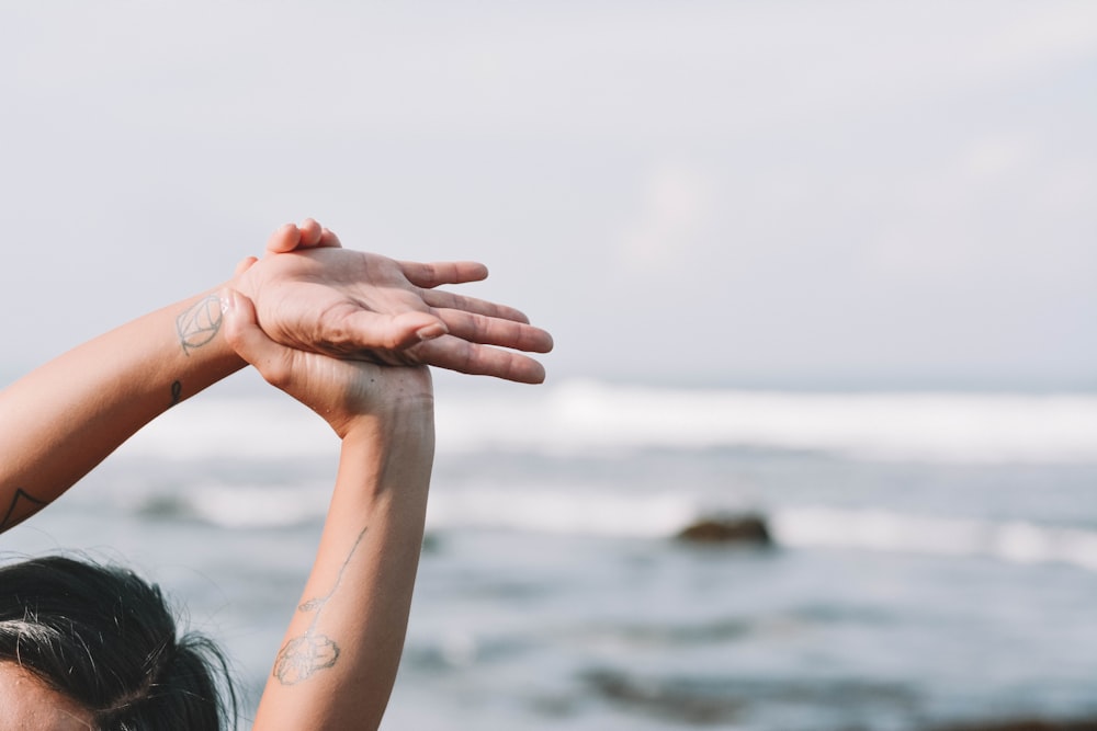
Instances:
[[[433,457],[429,411],[417,403],[344,437],[316,562],[256,729],[370,729],[381,722],[422,546]]]

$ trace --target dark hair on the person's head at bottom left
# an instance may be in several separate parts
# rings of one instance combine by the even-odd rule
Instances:
[[[83,706],[100,731],[235,724],[225,656],[177,637],[160,589],[126,569],[60,556],[0,568],[2,661]]]

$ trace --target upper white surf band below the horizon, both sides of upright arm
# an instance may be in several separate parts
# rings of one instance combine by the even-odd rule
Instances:
[[[440,452],[555,455],[645,448],[808,450],[859,459],[1097,462],[1097,395],[791,393],[568,381],[446,393]],[[330,430],[287,399],[199,399],[129,454],[194,458],[335,454]]]

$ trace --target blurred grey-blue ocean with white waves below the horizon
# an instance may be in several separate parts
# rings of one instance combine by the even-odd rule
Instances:
[[[0,553],[158,581],[228,651],[250,713],[337,454],[287,398],[215,389]],[[743,515],[771,546],[676,538]],[[385,729],[1097,717],[1094,393],[446,381],[427,523]]]

